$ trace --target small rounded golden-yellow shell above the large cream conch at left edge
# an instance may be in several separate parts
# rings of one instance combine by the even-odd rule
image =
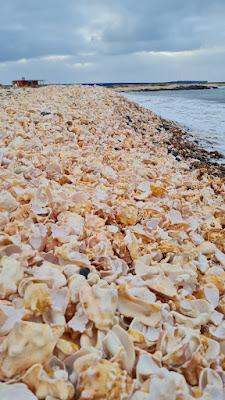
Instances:
[[[42,315],[46,308],[51,307],[52,300],[48,286],[45,283],[30,284],[25,289],[24,306],[37,316]]]

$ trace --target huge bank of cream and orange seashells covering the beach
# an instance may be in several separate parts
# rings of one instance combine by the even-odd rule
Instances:
[[[0,398],[223,400],[222,179],[108,89],[0,94]]]

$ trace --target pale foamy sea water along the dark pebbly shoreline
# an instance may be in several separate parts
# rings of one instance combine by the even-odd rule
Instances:
[[[225,156],[225,87],[129,92],[126,96],[190,130],[205,149],[217,150]]]

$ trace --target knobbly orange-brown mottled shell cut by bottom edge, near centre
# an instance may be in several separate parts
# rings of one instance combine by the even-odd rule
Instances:
[[[80,400],[123,400],[128,399],[132,391],[132,379],[117,363],[99,360],[84,364],[79,370],[77,393]]]

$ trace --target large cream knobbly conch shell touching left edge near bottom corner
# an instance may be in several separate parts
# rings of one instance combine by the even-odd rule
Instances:
[[[7,378],[20,374],[50,357],[62,330],[47,324],[17,322],[2,343],[1,373]]]

